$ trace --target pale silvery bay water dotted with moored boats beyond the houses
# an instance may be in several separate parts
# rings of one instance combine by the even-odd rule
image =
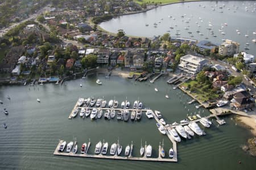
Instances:
[[[225,7],[223,7],[223,4]],[[223,9],[219,7],[223,7]],[[236,7],[238,8],[235,9]],[[246,7],[248,11],[246,11]],[[256,38],[256,35],[253,34],[253,32],[256,32],[256,23],[254,22],[256,13],[252,12],[255,8],[255,1],[176,3],[158,7],[146,13],[119,16],[101,23],[100,26],[110,32],[123,29],[127,35],[146,37],[163,35],[168,30],[171,31],[171,36],[177,36],[175,35],[176,31],[180,30],[178,31],[180,37],[191,38],[191,34],[188,34],[188,31],[191,31],[194,36],[192,39],[204,40],[208,37],[208,40],[218,44],[222,43],[222,39],[236,41],[240,43],[242,51],[245,50],[245,43],[250,43],[250,50],[246,50],[246,52],[256,55],[256,43],[251,42],[252,39]],[[220,11],[223,11],[223,13],[220,13]],[[169,15],[172,18],[168,18]],[[181,15],[184,15],[184,18],[181,18]],[[186,23],[186,20],[189,23]],[[156,28],[154,23],[158,24]],[[228,26],[225,26],[225,23]],[[149,26],[146,27],[146,24],[149,24]],[[224,27],[225,35],[218,31],[221,26]],[[170,27],[174,27],[174,29],[170,29]],[[189,30],[185,30],[185,27]],[[211,32],[207,30],[209,27],[212,28],[217,37],[210,34]],[[196,32],[197,30],[204,35],[199,35]],[[236,30],[239,30],[241,34],[238,35]],[[245,34],[248,34],[249,37],[246,38]]]

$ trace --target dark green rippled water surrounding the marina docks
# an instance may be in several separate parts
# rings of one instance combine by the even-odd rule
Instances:
[[[102,86],[95,81],[100,78]],[[225,117],[227,124],[217,127],[216,122],[205,129],[207,135],[194,136],[191,140],[182,140],[177,145],[178,163],[157,163],[144,161],[120,161],[104,159],[86,159],[79,157],[53,156],[59,139],[67,142],[76,136],[79,148],[89,138],[93,152],[99,140],[112,144],[117,142],[125,147],[133,143],[134,156],[139,155],[141,139],[151,144],[153,155],[157,156],[158,144],[164,139],[164,148],[170,149],[171,143],[156,128],[154,119],[145,115],[141,122],[106,121],[104,118],[90,121],[89,118],[68,119],[79,97],[143,101],[145,107],[160,110],[168,123],[180,121],[187,114],[198,113],[195,105],[187,105],[190,99],[180,90],[166,84],[167,77],[161,77],[155,84],[134,81],[119,77],[106,79],[101,76],[86,77],[84,80],[65,82],[65,85],[47,84],[43,86],[2,86],[0,87],[0,169],[255,169],[256,161],[240,148],[251,137],[249,131],[236,126],[232,117]],[[82,88],[79,84],[82,83]],[[154,88],[158,88],[156,93]],[[169,99],[164,96],[168,92]],[[11,100],[6,97],[10,96]],[[40,98],[41,103],[36,102]],[[3,113],[3,108],[9,115]],[[188,112],[189,109],[189,112]],[[200,109],[201,115],[209,111]],[[7,129],[2,123],[7,122]],[[242,164],[238,164],[241,160]]]

